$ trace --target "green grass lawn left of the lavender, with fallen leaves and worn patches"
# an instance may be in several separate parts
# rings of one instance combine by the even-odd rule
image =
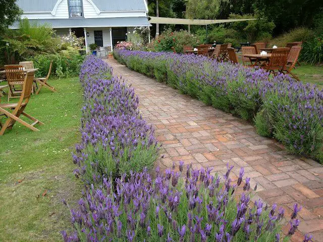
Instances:
[[[71,226],[62,199],[73,206],[81,194],[71,156],[80,139],[79,79],[49,83],[59,92],[43,88],[26,108],[44,123],[40,132],[16,123],[0,136],[0,241],[61,240],[60,231]]]

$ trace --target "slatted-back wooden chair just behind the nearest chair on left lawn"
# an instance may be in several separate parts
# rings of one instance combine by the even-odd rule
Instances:
[[[10,98],[20,97],[22,85],[24,84],[25,74],[22,65],[5,66],[6,76],[9,86],[8,102]]]

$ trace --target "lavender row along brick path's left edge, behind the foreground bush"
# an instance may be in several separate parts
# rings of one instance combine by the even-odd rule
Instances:
[[[153,129],[138,110],[134,90],[118,78],[99,58],[90,55],[81,67],[84,88],[81,118],[82,142],[76,146],[77,177],[96,183],[102,176],[113,177],[151,167],[158,145]]]

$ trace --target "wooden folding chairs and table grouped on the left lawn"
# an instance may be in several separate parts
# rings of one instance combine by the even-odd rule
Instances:
[[[36,124],[43,125],[38,119],[27,114],[24,110],[29,102],[30,96],[35,93],[38,94],[42,87],[48,88],[52,92],[57,90],[50,86],[47,81],[51,73],[52,62],[49,64],[48,74],[44,78],[35,77],[35,72],[38,70],[34,68],[33,62],[20,62],[19,65],[7,65],[5,70],[0,71],[0,75],[4,75],[4,79],[0,80],[0,118],[6,116],[6,122],[0,122],[0,136],[4,134],[7,129],[12,129],[16,122],[33,130],[39,131],[34,126]],[[6,84],[3,84],[6,83]],[[8,103],[2,103],[1,97],[6,94],[8,89]],[[18,99],[18,102],[10,102],[12,99]],[[28,124],[20,115],[32,120],[32,124]],[[1,119],[0,119],[1,120]]]

